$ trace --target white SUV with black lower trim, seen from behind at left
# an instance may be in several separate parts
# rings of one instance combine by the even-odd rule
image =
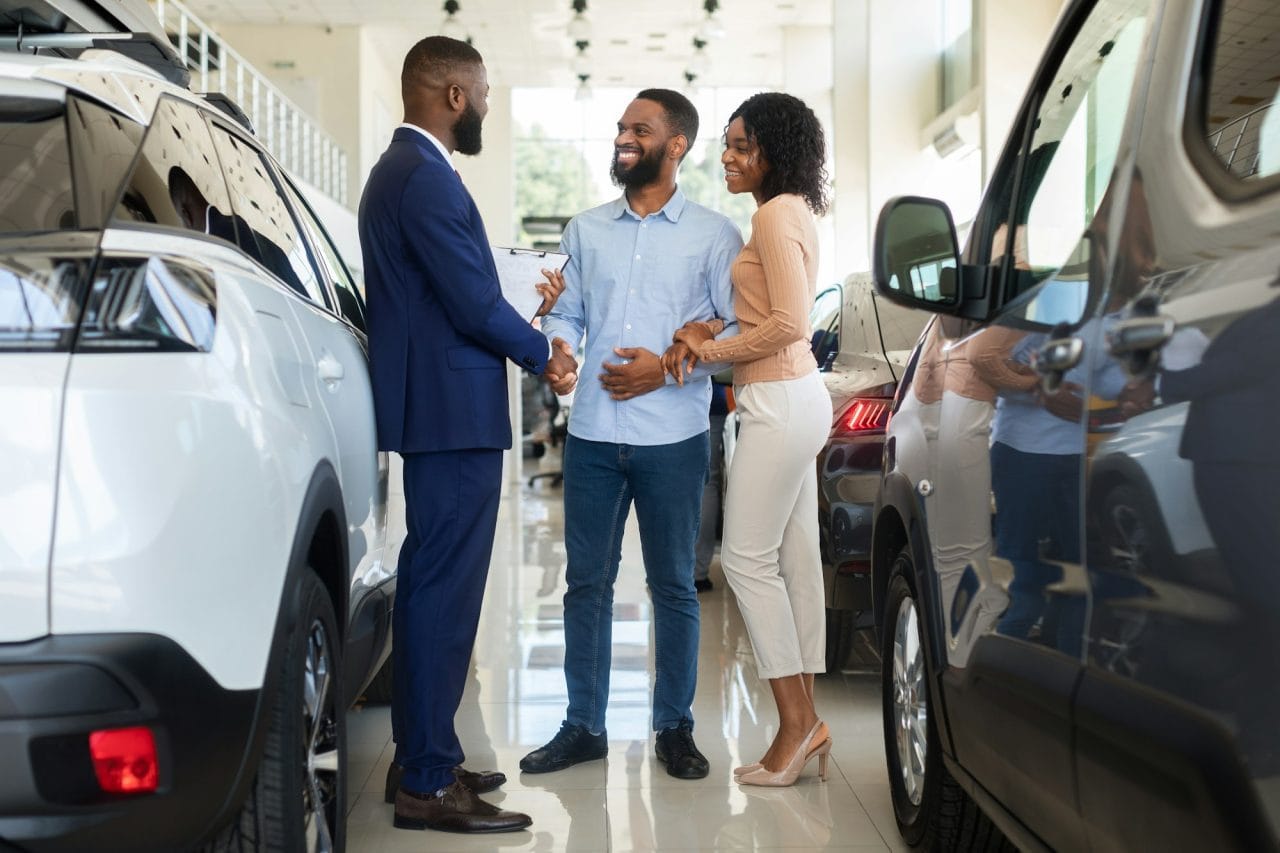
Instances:
[[[362,328],[229,115],[0,56],[0,848],[342,849],[402,530]]]

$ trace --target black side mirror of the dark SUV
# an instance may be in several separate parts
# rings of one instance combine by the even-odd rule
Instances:
[[[876,289],[884,298],[937,314],[960,313],[960,246],[946,204],[890,199],[876,223],[872,252]]]

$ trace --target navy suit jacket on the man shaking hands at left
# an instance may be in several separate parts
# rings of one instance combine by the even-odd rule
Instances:
[[[421,133],[398,128],[360,200],[379,450],[507,448],[506,359],[547,366],[547,338],[502,297],[471,195]]]

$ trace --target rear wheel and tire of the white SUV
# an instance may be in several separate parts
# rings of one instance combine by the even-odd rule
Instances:
[[[271,697],[266,744],[241,812],[216,853],[346,848],[347,715],[333,602],[310,569],[287,608],[288,639]]]

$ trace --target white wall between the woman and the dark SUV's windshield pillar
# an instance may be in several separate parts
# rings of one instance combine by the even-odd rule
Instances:
[[[938,119],[940,0],[833,1],[837,277],[870,269],[876,220],[892,196],[942,199],[960,223],[973,215],[1062,5],[977,0],[978,87],[957,110],[977,110],[977,138],[941,158],[925,132]]]

